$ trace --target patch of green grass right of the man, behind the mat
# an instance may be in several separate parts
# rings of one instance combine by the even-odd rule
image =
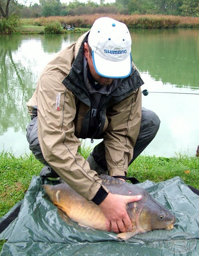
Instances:
[[[155,183],[179,176],[187,185],[199,189],[199,158],[181,154],[172,158],[139,156],[129,167],[128,175],[140,182],[148,179]]]

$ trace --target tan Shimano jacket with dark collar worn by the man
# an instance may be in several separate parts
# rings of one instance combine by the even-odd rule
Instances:
[[[101,179],[77,153],[79,138],[88,135],[85,131],[90,115],[81,73],[87,34],[49,62],[27,106],[30,115],[38,109],[38,138],[45,160],[69,186],[91,200],[101,187]],[[133,158],[141,123],[142,84],[138,71],[132,69],[130,77],[118,80],[117,89],[102,108],[103,125],[96,138],[104,139],[111,176],[124,176]]]

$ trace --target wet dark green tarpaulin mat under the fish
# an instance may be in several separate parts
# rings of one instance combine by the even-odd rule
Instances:
[[[58,210],[42,184],[57,184],[34,176],[18,217],[0,234],[0,256],[170,256],[199,255],[199,196],[179,177],[138,184],[176,217],[174,229],[153,230],[128,240],[116,234],[79,226]]]

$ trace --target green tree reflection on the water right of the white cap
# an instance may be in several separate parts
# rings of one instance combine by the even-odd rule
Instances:
[[[199,88],[199,29],[132,30],[133,60],[155,81]]]

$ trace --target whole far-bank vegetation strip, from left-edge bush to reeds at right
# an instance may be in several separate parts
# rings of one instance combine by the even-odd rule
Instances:
[[[128,28],[199,28],[199,17],[183,17],[173,15],[153,15],[153,14],[92,14],[75,16],[50,16],[29,19],[19,19],[16,16],[0,19],[0,34],[56,34],[56,33],[78,33],[90,29],[93,22],[99,17],[111,17],[124,22]],[[74,31],[63,29],[63,23],[73,25]]]

